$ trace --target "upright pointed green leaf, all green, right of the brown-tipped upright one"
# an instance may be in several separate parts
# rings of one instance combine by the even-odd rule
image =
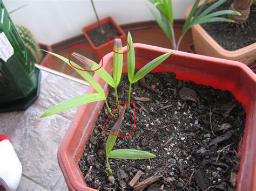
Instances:
[[[130,45],[130,51],[127,52],[127,57],[126,57],[127,58],[127,74],[128,74],[129,81],[132,82],[134,71],[135,71],[135,53],[134,53],[134,47],[132,42],[132,36],[130,32],[128,32],[127,42]],[[128,44],[127,44],[127,50],[128,50]]]

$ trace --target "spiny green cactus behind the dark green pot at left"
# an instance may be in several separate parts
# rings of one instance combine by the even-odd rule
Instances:
[[[31,52],[35,58],[36,63],[39,63],[42,59],[42,52],[39,51],[39,45],[33,36],[32,32],[23,25],[16,25],[16,29],[21,36],[26,48]]]

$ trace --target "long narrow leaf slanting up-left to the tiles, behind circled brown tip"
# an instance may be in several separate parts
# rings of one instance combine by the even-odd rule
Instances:
[[[41,51],[45,51],[44,49],[41,49]],[[56,56],[57,58],[59,58],[60,60],[63,60],[66,64],[68,64],[70,66],[70,63],[69,63],[69,59],[66,59],[65,57],[61,56],[61,55],[58,55],[58,54],[55,54],[55,53],[52,53],[52,52],[49,52],[49,51],[45,51],[45,52],[48,52],[49,54],[52,54],[54,56]],[[79,69],[83,69],[82,67],[80,67],[79,65],[77,65],[75,62],[72,62],[73,66],[79,68]],[[105,96],[105,92],[104,90],[102,89],[102,87],[99,85],[99,83],[86,71],[83,71],[83,70],[79,70],[79,69],[76,69],[74,67],[72,67],[73,69],[76,70],[76,72],[78,74],[80,74],[85,81],[87,81],[88,83],[90,83],[90,85],[96,90],[98,91],[98,93],[100,94],[103,94]]]

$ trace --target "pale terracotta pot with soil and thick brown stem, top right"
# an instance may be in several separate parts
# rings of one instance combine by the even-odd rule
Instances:
[[[210,1],[211,3],[213,1]],[[200,1],[199,5],[204,5]],[[194,25],[192,36],[195,52],[198,54],[214,56],[229,60],[237,60],[250,66],[256,60],[256,44],[253,27],[255,24],[255,5],[250,1],[224,1],[218,9],[230,8],[237,10],[242,16],[228,16],[235,21],[235,24],[214,24]],[[192,5],[186,10],[186,18],[192,10]],[[245,21],[247,22],[245,23]]]

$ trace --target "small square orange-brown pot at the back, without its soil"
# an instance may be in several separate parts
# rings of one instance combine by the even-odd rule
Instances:
[[[120,37],[122,37],[122,38],[125,37],[125,32],[124,32],[124,31],[121,29],[121,27],[114,21],[114,19],[113,19],[112,17],[106,17],[106,18],[100,20],[99,22],[100,22],[100,24],[105,24],[105,23],[108,23],[108,22],[112,23],[112,25],[116,28],[116,30],[121,34]],[[106,53],[112,52],[112,49],[108,46],[108,43],[105,43],[105,44],[100,45],[100,46],[95,46],[95,45],[92,43],[90,37],[87,35],[87,31],[91,31],[91,30],[97,28],[98,26],[99,26],[98,22],[95,22],[95,23],[93,23],[93,24],[91,24],[91,25],[88,25],[88,26],[83,27],[82,31],[83,31],[83,33],[84,33],[85,38],[89,41],[91,47],[92,47],[93,49],[95,49],[96,51],[98,51],[100,54],[105,55]],[[114,45],[114,39],[110,40],[109,43],[110,43],[110,45],[113,47],[113,45]]]

